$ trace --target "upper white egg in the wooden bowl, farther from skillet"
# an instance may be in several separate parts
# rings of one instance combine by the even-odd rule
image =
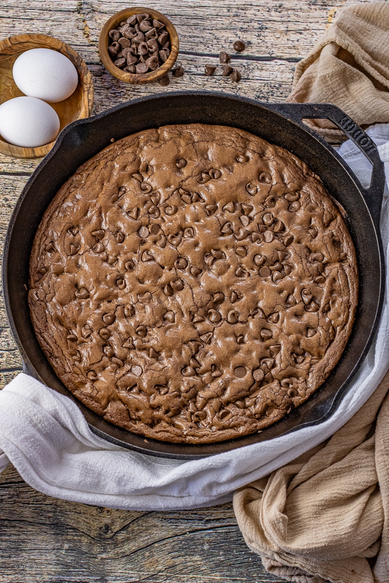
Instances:
[[[69,97],[78,84],[73,63],[61,52],[50,48],[32,48],[23,52],[13,64],[12,75],[25,95],[50,103]]]

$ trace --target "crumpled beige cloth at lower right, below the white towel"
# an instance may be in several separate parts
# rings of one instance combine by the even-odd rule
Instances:
[[[270,573],[304,583],[389,580],[388,391],[389,373],[330,440],[234,494],[243,536]],[[367,557],[377,553],[372,570]]]

